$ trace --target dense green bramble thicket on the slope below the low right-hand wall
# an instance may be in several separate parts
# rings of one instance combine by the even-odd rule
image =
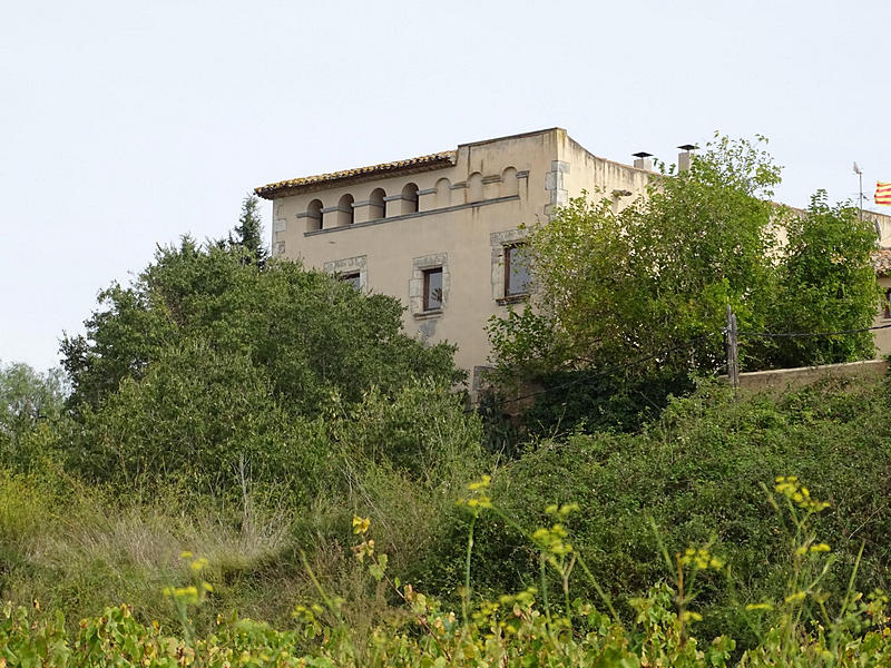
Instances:
[[[830,590],[844,589],[861,541],[858,587],[888,586],[890,430],[882,385],[829,382],[737,401],[725,387],[707,384],[674,400],[638,435],[542,441],[495,475],[492,498],[522,527],[540,525],[541,509],[550,503],[578,503],[585,512],[568,522],[574,544],[619,601],[642,596],[664,572],[650,518],[670,553],[715,539],[742,584],[733,591],[716,582],[704,593],[713,615],[703,631],[751,644],[737,603],[775,597],[787,567],[787,546],[760,488],[765,479],[800,473],[832,503],[819,522],[839,557],[828,574]],[[462,513],[443,518],[439,547],[417,571],[427,589],[453,596],[462,584],[460,567],[439,564],[460,563],[458,537],[466,531]],[[479,590],[536,582],[535,551],[510,525],[481,519],[474,540]]]

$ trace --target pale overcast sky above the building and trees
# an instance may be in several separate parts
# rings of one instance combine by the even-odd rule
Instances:
[[[45,370],[255,186],[554,126],[668,163],[770,138],[776,199],[891,180],[891,2],[0,4],[0,363]],[[891,207],[878,207],[891,213]],[[267,236],[270,206],[264,203]]]

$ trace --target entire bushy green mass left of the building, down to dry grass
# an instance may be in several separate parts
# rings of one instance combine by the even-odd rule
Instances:
[[[184,238],[129,286],[100,294],[86,334],[62,342],[79,425],[71,470],[146,493],[169,481],[222,498],[272,485],[305,501],[339,470],[331,458],[364,449],[369,434],[385,441],[375,420],[429,420],[404,410],[386,418],[380,406],[404,406],[404,389],[418,383],[432,401],[462,379],[452,346],[402,332],[396,299],[298,263],[271,259],[260,271],[243,259],[238,248]],[[447,412],[461,422],[456,434],[470,429],[470,416]],[[363,428],[329,426],[344,420]],[[407,435],[391,463],[432,470],[431,439],[447,428],[407,432],[425,441]],[[410,466],[412,449],[423,469]]]

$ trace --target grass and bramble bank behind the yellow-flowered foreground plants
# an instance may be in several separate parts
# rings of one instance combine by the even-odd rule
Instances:
[[[891,413],[881,383],[829,383],[738,400],[706,385],[673,402],[638,435],[546,440],[507,464],[479,449],[450,454],[479,443],[479,424],[460,410],[449,413],[448,394],[438,406],[425,403],[429,396],[429,389],[418,386],[394,402],[369,400],[337,430],[325,432],[331,487],[313,499],[248,492],[244,507],[233,509],[183,482],[157,488],[151,499],[136,490],[123,494],[87,485],[53,460],[29,474],[8,472],[0,479],[8,500],[0,513],[3,596],[19,603],[37,599],[43,610],[61,610],[71,622],[128,601],[133,623],[159,620],[163,635],[177,635],[182,620],[164,589],[188,586],[192,571],[179,552],[190,550],[207,559],[203,576],[214,587],[189,610],[196,637],[222,632],[215,619],[229,610],[291,629],[295,606],[323,603],[309,564],[330,598],[343,597],[339,615],[351,642],[363,646],[376,622],[412,622],[392,589],[388,593],[363,576],[351,550],[351,520],[360,515],[371,519],[375,549],[389,556],[388,572],[441,600],[443,615],[452,610],[461,619],[473,523],[472,609],[505,592],[547,587],[551,615],[560,616],[561,578],[548,567],[542,584],[532,536],[551,525],[547,505],[577,503],[579,511],[561,522],[566,541],[609,597],[631,647],[640,641],[635,606],[652,587],[668,588],[654,596],[665,609],[658,618],[675,623],[672,572],[660,544],[669,554],[707,544],[727,569],[701,578],[695,610],[703,619],[696,635],[701,645],[726,635],[744,649],[782,623],[779,610],[753,618],[745,606],[782,600],[795,566],[789,523],[761,488],[792,471],[831,504],[811,521],[820,541],[832,547],[819,587],[830,615],[838,613],[855,566],[859,591],[887,588]],[[428,449],[418,452],[415,469],[393,464],[390,453],[378,449],[390,444],[399,453],[411,443]],[[456,501],[468,494],[463,483],[481,471],[492,475],[487,494],[498,511],[483,510],[473,520],[468,505]],[[572,600],[608,611],[579,566],[569,581]],[[822,593],[813,595],[811,612],[822,600]],[[542,605],[540,595],[533,598]],[[337,623],[330,612],[316,615],[322,626]],[[303,638],[296,647],[315,651],[317,646]]]

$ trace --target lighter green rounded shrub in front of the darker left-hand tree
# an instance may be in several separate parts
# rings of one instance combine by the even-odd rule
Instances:
[[[262,369],[202,341],[164,348],[82,422],[70,470],[127,490],[174,478],[198,493],[241,494],[300,477],[290,489],[305,502],[329,450],[320,425],[278,406]]]

